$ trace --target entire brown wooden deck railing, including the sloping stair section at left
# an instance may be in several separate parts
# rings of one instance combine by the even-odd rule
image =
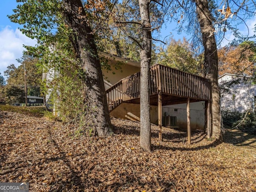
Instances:
[[[162,65],[150,67],[150,95],[162,92],[174,96],[210,100],[210,81],[206,78]],[[122,101],[140,97],[140,72],[128,76],[106,90],[109,109]]]

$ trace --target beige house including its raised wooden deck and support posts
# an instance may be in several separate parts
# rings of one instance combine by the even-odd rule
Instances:
[[[102,69],[110,116],[140,121],[140,63],[102,52],[99,56],[110,66]],[[48,80],[55,73],[49,71]],[[207,127],[210,137],[210,87],[206,78],[159,64],[150,67],[150,119],[159,125],[160,139],[162,124],[188,128],[188,135],[191,128]]]

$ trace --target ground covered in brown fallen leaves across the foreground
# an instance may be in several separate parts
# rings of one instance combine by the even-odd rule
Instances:
[[[108,138],[42,117],[0,111],[0,182],[29,182],[30,191],[256,190],[256,138],[227,130],[225,142],[202,132],[152,126],[152,153],[139,146],[138,122],[113,119]]]

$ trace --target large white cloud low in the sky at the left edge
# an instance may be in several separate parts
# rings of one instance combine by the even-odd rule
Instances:
[[[22,57],[23,45],[35,45],[36,41],[23,35],[19,29],[12,29],[6,26],[0,29],[0,73],[4,75],[7,67],[14,64],[16,67],[20,65],[16,59]]]

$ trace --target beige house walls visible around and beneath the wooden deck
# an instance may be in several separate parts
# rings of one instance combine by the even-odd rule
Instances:
[[[101,56],[104,56],[104,58],[106,58],[110,63],[112,63],[114,65],[114,63],[116,62],[121,62],[123,63],[123,65],[120,66],[120,69],[114,69],[114,67],[112,68],[112,71],[106,71],[106,70],[102,70],[102,73],[104,74],[104,83],[105,83],[105,88],[106,90],[108,90],[108,88],[112,87],[114,84],[120,82],[120,80],[128,77],[130,75],[134,75],[134,74],[139,74],[140,73],[140,63],[134,62],[134,61],[130,61],[115,55],[109,55],[106,53],[101,53]],[[111,66],[111,65],[110,65]],[[163,67],[163,66],[162,66]],[[163,69],[165,69],[163,67]],[[172,69],[174,70],[174,69]],[[176,71],[176,70],[175,70]],[[166,72],[166,71],[165,71]],[[182,74],[181,71],[179,71],[180,73],[178,73],[178,70],[176,71],[177,75],[175,75],[175,83],[177,83],[176,78],[178,78],[178,74]],[[184,73],[184,72],[183,72]],[[186,75],[190,75],[187,73],[184,73]],[[130,78],[132,78],[132,76],[130,76]],[[138,76],[135,77],[134,79],[138,79]],[[166,78],[167,80],[167,75],[166,77],[164,76],[164,78]],[[186,78],[186,76],[184,77]],[[128,80],[128,79],[126,79]],[[134,81],[136,82],[136,81]],[[139,82],[138,82],[139,83]],[[139,86],[137,83],[136,86]],[[184,85],[184,82],[182,82],[182,86]],[[203,82],[203,84],[205,84],[205,82]],[[167,88],[167,86],[165,87],[165,89]],[[134,86],[135,89],[135,86]],[[108,91],[107,91],[108,92]],[[112,90],[113,92],[113,90]],[[117,90],[115,94],[120,94],[119,96],[119,100],[121,100],[121,97],[123,96],[123,92],[122,90]],[[122,94],[122,96],[121,96]],[[139,94],[139,93],[138,93]],[[172,93],[170,93],[172,94]],[[113,96],[108,96],[107,93],[107,99],[108,102],[110,103],[111,100],[113,100]],[[109,98],[112,99],[109,99]],[[118,100],[116,99],[116,100]],[[123,98],[122,98],[123,100]],[[113,101],[112,101],[113,102]],[[117,101],[118,102],[118,101]],[[120,101],[119,101],[120,102]],[[180,104],[180,102],[182,104]],[[178,101],[178,104],[176,104],[177,102],[174,100],[174,102],[172,102],[172,105],[165,105],[162,106],[162,125],[167,126],[167,127],[179,127],[179,128],[186,128],[187,127],[187,104],[186,101]],[[110,115],[116,118],[122,118],[122,119],[129,119],[129,120],[140,120],[140,104],[139,102],[120,102],[120,104],[115,104],[118,106],[112,106],[113,109],[110,109]],[[198,101],[198,102],[192,102],[190,104],[190,125],[191,125],[191,129],[200,129],[203,130],[204,126],[205,126],[205,102],[204,101]],[[150,119],[151,119],[151,123],[154,124],[158,124],[158,106],[157,105],[151,105],[150,106]]]

